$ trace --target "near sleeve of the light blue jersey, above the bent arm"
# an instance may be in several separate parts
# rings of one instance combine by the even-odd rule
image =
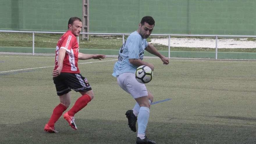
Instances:
[[[140,46],[140,39],[139,38],[133,38],[127,45],[128,47],[128,58],[139,58],[139,46]]]

